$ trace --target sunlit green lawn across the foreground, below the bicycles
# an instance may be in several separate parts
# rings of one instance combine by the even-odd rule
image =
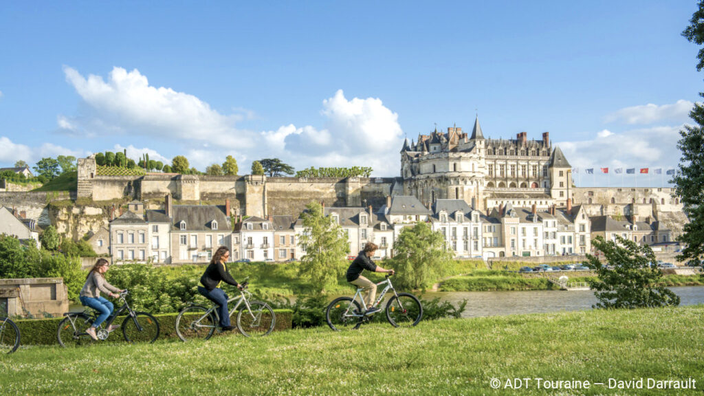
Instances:
[[[27,347],[0,356],[3,395],[701,395],[704,306],[291,330],[182,344]],[[617,390],[609,378],[697,381]],[[494,390],[492,378],[532,378]],[[589,380],[538,388],[536,378]]]

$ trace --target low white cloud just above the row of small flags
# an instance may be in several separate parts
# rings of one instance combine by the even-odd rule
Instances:
[[[680,157],[677,140],[681,128],[663,126],[619,133],[603,130],[593,140],[555,145],[573,168],[674,168]]]

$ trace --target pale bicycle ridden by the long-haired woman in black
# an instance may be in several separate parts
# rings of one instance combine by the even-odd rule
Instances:
[[[246,279],[241,283],[239,296],[227,300],[228,307],[230,302],[239,300],[230,310],[230,317],[232,318],[234,311],[237,311],[237,330],[242,335],[246,337],[253,335],[263,337],[274,330],[276,315],[274,310],[269,307],[269,304],[260,301],[249,301],[252,294],[247,290],[249,282]],[[220,316],[218,315],[217,304],[213,303],[210,308],[207,308],[191,302],[191,305],[182,309],[176,317],[176,334],[184,342],[194,338],[208,340],[213,336],[216,328],[222,331],[219,323]]]

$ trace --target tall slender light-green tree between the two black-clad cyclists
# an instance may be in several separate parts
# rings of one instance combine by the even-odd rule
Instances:
[[[301,258],[299,273],[310,279],[313,290],[320,294],[344,275],[350,248],[345,233],[332,217],[325,216],[318,202],[306,205],[301,218],[303,234],[298,245],[306,255]]]

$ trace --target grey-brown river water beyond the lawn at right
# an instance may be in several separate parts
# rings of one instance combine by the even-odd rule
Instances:
[[[704,286],[670,287],[680,305],[704,304]],[[455,306],[467,299],[462,316],[500,316],[540,312],[584,311],[596,304],[591,290],[529,290],[521,292],[427,292],[424,299],[440,297]]]

